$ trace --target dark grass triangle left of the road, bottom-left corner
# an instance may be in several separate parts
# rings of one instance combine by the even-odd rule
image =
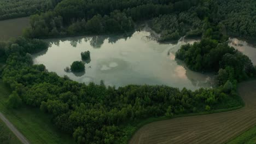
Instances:
[[[9,128],[4,124],[3,121],[0,120],[0,133],[8,136],[8,141],[3,141],[0,139],[0,143],[9,143],[9,144],[21,144],[20,140],[9,130]],[[1,135],[0,137],[2,137]]]

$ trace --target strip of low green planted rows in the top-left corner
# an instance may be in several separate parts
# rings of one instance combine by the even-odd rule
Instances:
[[[61,0],[1,0],[0,20],[25,17],[55,8]]]

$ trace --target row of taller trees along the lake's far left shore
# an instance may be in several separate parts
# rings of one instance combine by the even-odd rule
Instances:
[[[114,11],[109,16],[95,15],[90,20],[73,22],[64,27],[61,16],[55,17],[53,12],[31,16],[31,28],[24,32],[27,38],[63,37],[65,35],[125,33],[134,29],[131,17],[120,11]]]

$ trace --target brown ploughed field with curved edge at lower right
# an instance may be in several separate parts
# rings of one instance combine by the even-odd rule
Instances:
[[[256,81],[240,83],[238,93],[242,109],[149,123],[129,143],[225,143],[256,125]]]

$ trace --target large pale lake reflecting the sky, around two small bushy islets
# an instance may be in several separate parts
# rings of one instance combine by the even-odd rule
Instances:
[[[67,75],[78,82],[125,86],[129,84],[168,85],[197,89],[211,87],[212,75],[195,73],[176,61],[175,52],[181,45],[195,40],[181,40],[177,44],[159,44],[146,31],[130,37],[95,36],[48,40],[48,50],[34,55],[35,64],[44,64],[49,71]],[[89,50],[91,61],[85,64],[85,74],[66,73],[63,69],[73,61],[80,61],[80,53]]]

